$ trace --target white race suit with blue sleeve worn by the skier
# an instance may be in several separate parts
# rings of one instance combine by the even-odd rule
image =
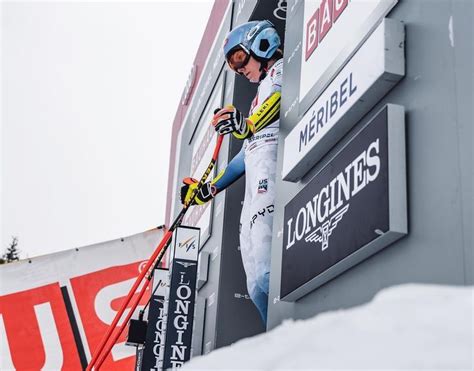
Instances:
[[[283,59],[276,61],[260,82],[250,115],[273,93],[281,91]],[[215,185],[225,188],[245,170],[245,198],[240,217],[240,250],[250,298],[264,323],[267,318],[275,171],[279,120],[245,139],[242,150]],[[229,170],[229,171],[227,171]]]

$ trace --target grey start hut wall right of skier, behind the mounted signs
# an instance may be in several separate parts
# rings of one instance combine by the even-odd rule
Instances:
[[[308,318],[366,303],[392,285],[473,284],[473,32],[468,14],[470,1],[400,0],[388,18],[405,24],[405,78],[300,182],[278,181],[269,328],[285,318]],[[283,100],[287,84],[291,81],[284,79]],[[387,103],[402,105],[406,112],[408,235],[296,302],[279,300],[284,206]],[[281,120],[282,140],[294,124]],[[277,174],[282,168],[281,143]]]

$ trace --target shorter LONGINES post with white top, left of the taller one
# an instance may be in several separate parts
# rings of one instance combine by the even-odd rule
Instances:
[[[165,303],[168,291],[168,269],[158,268],[153,273],[153,296],[148,311],[148,327],[143,349],[142,371],[161,370],[165,343]]]

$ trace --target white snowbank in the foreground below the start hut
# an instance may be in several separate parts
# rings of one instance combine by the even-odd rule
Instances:
[[[409,284],[362,306],[287,320],[183,370],[472,370],[472,286]]]

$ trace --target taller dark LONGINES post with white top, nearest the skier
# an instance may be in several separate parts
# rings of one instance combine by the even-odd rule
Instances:
[[[173,236],[163,370],[181,367],[191,358],[199,231],[199,228],[179,227]]]

